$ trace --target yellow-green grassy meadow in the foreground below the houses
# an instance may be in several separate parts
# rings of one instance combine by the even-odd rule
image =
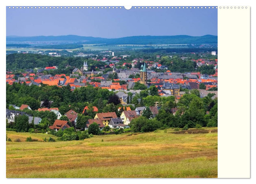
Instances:
[[[50,135],[7,131],[12,142],[6,142],[6,177],[217,177],[217,132],[173,131],[127,132],[66,142],[41,142]],[[28,136],[38,142],[25,142]],[[17,138],[22,142],[14,142]]]

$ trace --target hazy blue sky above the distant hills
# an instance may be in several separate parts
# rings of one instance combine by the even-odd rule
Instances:
[[[6,35],[217,35],[217,9],[9,9]]]

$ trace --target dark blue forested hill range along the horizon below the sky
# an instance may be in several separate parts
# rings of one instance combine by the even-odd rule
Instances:
[[[6,41],[26,42],[26,41],[75,41],[79,44],[213,44],[218,43],[218,36],[204,35],[199,37],[189,35],[175,36],[131,36],[122,38],[100,38],[86,37],[78,35],[62,36],[33,36],[33,37],[15,37],[7,36]]]

